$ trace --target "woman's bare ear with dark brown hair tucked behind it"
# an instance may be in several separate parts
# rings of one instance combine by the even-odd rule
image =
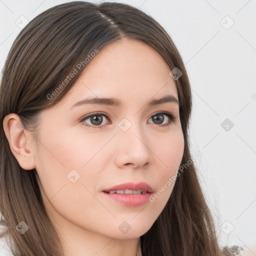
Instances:
[[[15,113],[6,115],[3,119],[3,130],[8,139],[10,150],[19,165],[26,170],[34,169],[35,160],[31,139],[28,141],[32,134],[23,130],[19,116]]]

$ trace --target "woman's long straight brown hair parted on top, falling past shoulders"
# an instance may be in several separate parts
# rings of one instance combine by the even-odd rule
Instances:
[[[191,161],[188,140],[191,90],[183,61],[167,32],[141,10],[123,3],[73,1],[56,5],[32,19],[18,34],[5,61],[0,122],[7,114],[16,113],[23,128],[34,132],[36,138],[40,111],[59,102],[86,65],[76,68],[79,73],[54,97],[47,95],[52,94],[77,63],[84,63],[88,54],[124,37],[150,45],[170,70],[174,67],[181,70],[182,75],[175,80],[184,135],[181,164],[191,162],[177,177],[159,217],[141,236],[142,255],[229,255],[229,250],[218,245],[213,219]],[[64,255],[42,203],[36,170],[20,167],[2,125],[0,139],[0,212],[1,224],[6,227],[1,235],[9,235],[13,240],[14,255]],[[20,221],[29,226],[23,235],[15,228]]]

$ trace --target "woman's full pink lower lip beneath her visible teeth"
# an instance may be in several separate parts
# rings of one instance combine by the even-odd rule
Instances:
[[[120,202],[122,204],[125,204],[127,206],[140,206],[149,201],[149,197],[152,193],[145,193],[145,194],[110,194],[107,192],[103,192],[105,196],[108,198]]]

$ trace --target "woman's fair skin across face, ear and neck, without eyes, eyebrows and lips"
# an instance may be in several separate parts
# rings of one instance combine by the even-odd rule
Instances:
[[[146,105],[166,94],[178,98],[169,72],[151,47],[122,39],[99,51],[68,94],[40,113],[37,146],[31,132],[18,129],[16,114],[4,118],[4,131],[20,166],[36,169],[43,202],[66,256],[141,255],[139,237],[161,213],[174,182],[154,202],[138,207],[108,199],[101,191],[145,181],[155,192],[176,174],[184,150],[178,104]],[[123,106],[86,104],[70,109],[95,96],[118,98]],[[155,122],[152,115],[161,111],[170,112],[175,121],[163,115],[162,123]],[[90,118],[79,122],[97,112],[109,115],[101,115],[102,128],[84,125],[95,125]],[[125,132],[118,126],[123,118],[131,123]],[[161,126],[168,121],[170,125]],[[67,178],[72,169],[80,175],[74,183]],[[126,233],[118,228],[123,221],[131,227]]]

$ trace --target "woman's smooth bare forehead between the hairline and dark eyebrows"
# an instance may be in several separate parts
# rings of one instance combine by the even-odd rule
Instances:
[[[90,59],[67,93],[65,104],[85,97],[115,97],[123,104],[145,102],[171,94],[178,98],[175,81],[161,56],[147,44],[122,39],[107,45]]]

